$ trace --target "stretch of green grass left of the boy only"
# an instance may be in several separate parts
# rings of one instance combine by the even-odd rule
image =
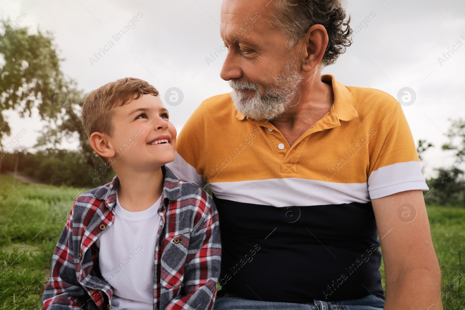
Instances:
[[[15,183],[0,175],[0,310],[40,309],[53,249],[81,189]]]

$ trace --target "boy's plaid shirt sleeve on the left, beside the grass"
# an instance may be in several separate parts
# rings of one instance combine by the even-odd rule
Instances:
[[[53,252],[50,280],[46,284],[42,297],[44,305],[42,310],[80,309],[86,299],[90,298],[76,278],[72,242],[72,212],[70,212],[66,226],[61,231],[60,239]]]

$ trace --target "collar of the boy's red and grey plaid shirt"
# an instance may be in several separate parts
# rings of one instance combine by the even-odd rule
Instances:
[[[165,181],[163,183],[163,198],[168,198],[169,200],[176,200],[181,197],[181,188],[179,186],[178,177],[171,171],[166,165],[162,166],[163,174],[165,175]],[[114,176],[113,180],[108,184],[106,191],[97,191],[95,193],[95,198],[99,200],[104,200],[105,205],[111,210],[116,205],[116,191],[118,185],[120,184],[120,179],[117,175]]]

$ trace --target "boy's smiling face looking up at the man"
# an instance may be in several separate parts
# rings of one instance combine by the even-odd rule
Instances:
[[[157,169],[174,160],[176,129],[158,96],[145,94],[113,109],[107,136],[113,168]]]

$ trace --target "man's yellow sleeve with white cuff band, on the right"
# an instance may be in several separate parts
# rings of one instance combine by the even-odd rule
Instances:
[[[389,196],[401,191],[428,190],[421,172],[412,132],[399,102],[395,110],[381,123],[389,122],[385,137],[375,146],[370,158],[368,192],[370,199]],[[383,124],[379,125],[384,127]]]

